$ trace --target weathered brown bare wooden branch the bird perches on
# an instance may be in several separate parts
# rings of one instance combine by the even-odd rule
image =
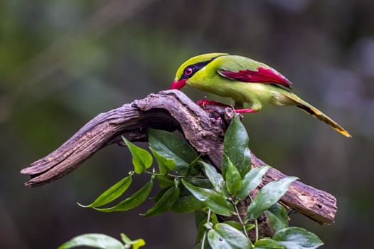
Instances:
[[[119,142],[120,135],[133,142],[146,141],[148,128],[178,129],[196,151],[203,154],[203,159],[219,168],[225,128],[234,113],[229,108],[210,111],[205,112],[183,92],[167,90],[101,113],[54,152],[22,169],[22,174],[31,176],[25,185],[40,186],[65,176],[102,147]],[[222,118],[217,120],[212,116]],[[253,167],[264,164],[252,154]],[[271,168],[262,184],[285,176]],[[334,196],[301,181],[295,181],[281,201],[321,224],[331,223],[337,211]]]

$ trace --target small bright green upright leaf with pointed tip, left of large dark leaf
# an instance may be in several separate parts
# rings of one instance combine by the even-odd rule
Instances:
[[[151,167],[153,158],[149,152],[147,152],[145,149],[137,147],[135,144],[129,142],[129,140],[125,139],[124,137],[122,137],[122,139],[124,139],[124,142],[126,143],[129,151],[132,154],[132,164],[134,164],[134,171],[137,174],[141,174],[146,169]]]

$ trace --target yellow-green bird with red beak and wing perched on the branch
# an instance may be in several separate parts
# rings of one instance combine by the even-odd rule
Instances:
[[[235,112],[258,112],[263,103],[296,106],[344,136],[352,137],[340,124],[294,94],[292,83],[286,77],[257,60],[228,53],[197,55],[178,68],[171,89],[181,90],[186,85],[232,98]],[[243,108],[244,103],[248,108]],[[207,104],[231,106],[211,100],[198,101],[198,105]]]

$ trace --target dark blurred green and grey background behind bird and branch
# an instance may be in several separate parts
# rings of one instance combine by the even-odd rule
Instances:
[[[291,225],[319,235],[324,248],[370,248],[373,9],[373,1],[360,0],[1,1],[0,248],[56,248],[81,233],[126,233],[144,238],[147,248],[193,248],[192,214],[140,217],[151,201],[124,213],[75,203],[90,203],[127,175],[126,148],[102,149],[38,188],[23,186],[28,178],[19,171],[98,113],[169,89],[184,60],[208,52],[272,65],[294,92],[351,132],[347,139],[293,107],[245,115],[257,157],[338,199],[331,226],[298,214]],[[193,100],[206,95],[183,91]],[[130,191],[147,180],[138,176]]]

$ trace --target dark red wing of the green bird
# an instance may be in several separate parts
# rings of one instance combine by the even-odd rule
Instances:
[[[275,70],[270,68],[258,68],[257,71],[252,71],[249,69],[239,70],[233,72],[230,70],[219,69],[218,73],[225,78],[230,78],[232,80],[239,80],[243,82],[252,83],[264,83],[264,84],[280,84],[284,85],[286,88],[291,89],[291,82],[287,80],[286,77],[281,75]]]

